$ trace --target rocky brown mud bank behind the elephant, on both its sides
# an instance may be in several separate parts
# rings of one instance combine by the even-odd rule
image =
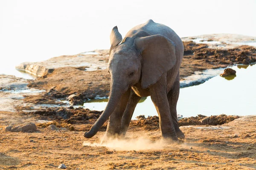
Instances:
[[[207,43],[195,43],[191,40],[195,38],[183,40],[184,57],[180,67],[180,87],[198,85],[220,74],[215,68],[256,62],[256,48],[252,46],[209,48]],[[67,106],[68,96],[72,94],[76,95],[76,98],[70,99],[70,104],[73,105],[82,105],[88,99],[108,96],[110,75],[105,69],[108,57],[108,50],[98,50],[30,63],[27,67],[35,71],[38,70],[34,68],[41,66],[50,69],[34,80],[3,75],[0,77],[0,105],[5,108],[2,111],[40,110],[47,105]],[[31,93],[31,89],[42,91]],[[18,95],[9,90],[18,92]]]

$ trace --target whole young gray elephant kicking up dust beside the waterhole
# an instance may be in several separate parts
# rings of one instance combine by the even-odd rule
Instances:
[[[140,98],[151,96],[160,118],[162,139],[185,138],[176,111],[184,51],[180,37],[168,26],[148,20],[132,28],[123,40],[114,27],[110,39],[108,104],[84,137],[93,137],[107,119],[105,139],[124,136]]]

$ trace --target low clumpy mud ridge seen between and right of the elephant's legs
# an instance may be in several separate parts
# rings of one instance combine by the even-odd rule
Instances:
[[[227,116],[224,114],[218,116],[204,116],[199,114],[195,117],[182,118],[179,120],[179,126],[188,126],[188,125],[222,125],[224,123],[231,122],[235,119],[238,119],[239,116]],[[207,121],[202,121],[206,120]],[[158,116],[137,116],[137,120],[131,121],[131,126],[144,127],[147,130],[158,129],[159,128],[159,117]]]

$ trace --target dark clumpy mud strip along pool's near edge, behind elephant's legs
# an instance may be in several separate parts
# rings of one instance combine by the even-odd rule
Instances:
[[[27,115],[38,116],[38,119],[46,119],[59,123],[67,123],[72,125],[86,125],[84,129],[76,130],[89,130],[90,126],[96,122],[96,120],[101,115],[102,111],[90,111],[89,109],[84,108],[47,108],[41,111],[33,111],[26,113]],[[232,122],[235,119],[238,119],[239,116],[227,116],[227,115],[218,115],[218,116],[204,116],[198,115],[195,117],[182,118],[180,119],[179,126],[188,126],[188,125],[223,125],[225,123]],[[131,127],[143,127],[147,130],[159,129],[159,117],[158,116],[137,116],[137,120],[131,120]],[[101,130],[106,130],[107,122],[103,125]]]

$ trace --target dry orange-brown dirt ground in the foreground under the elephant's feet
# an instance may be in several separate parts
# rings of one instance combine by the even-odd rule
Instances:
[[[169,145],[161,144],[159,128],[134,124],[125,139],[101,145],[102,131],[91,139],[83,137],[92,122],[87,123],[70,130],[67,124],[37,123],[33,133],[0,130],[0,168],[45,170],[57,169],[61,163],[74,170],[256,168],[256,116],[218,126],[182,126],[186,139]],[[58,130],[50,130],[49,124]],[[71,131],[76,129],[82,131]]]

